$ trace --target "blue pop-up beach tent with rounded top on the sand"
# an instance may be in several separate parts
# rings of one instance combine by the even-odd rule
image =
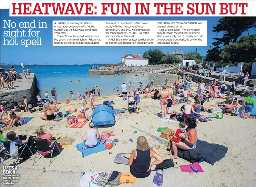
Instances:
[[[115,115],[112,108],[108,105],[97,106],[92,113],[92,122],[94,126],[114,125]]]

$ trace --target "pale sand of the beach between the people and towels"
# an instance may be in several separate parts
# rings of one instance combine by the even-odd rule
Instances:
[[[193,82],[193,92],[196,92],[197,85]],[[166,126],[176,131],[179,128],[179,122],[169,123],[159,121],[161,116],[161,107],[159,100],[152,100],[152,98],[144,98],[141,96],[140,114],[129,114],[125,111],[122,114],[123,133],[121,133],[121,114],[115,116],[116,124],[109,128],[99,128],[100,133],[108,133],[113,131],[115,136],[112,139],[119,139],[119,142],[110,150],[95,153],[89,156],[82,157],[74,146],[82,142],[82,136],[88,123],[83,128],[67,128],[69,125],[66,118],[59,122],[44,121],[40,119],[38,110],[32,114],[19,113],[22,117],[34,117],[33,120],[25,125],[18,127],[5,127],[2,129],[4,137],[9,131],[15,131],[17,134],[35,135],[35,130],[43,126],[46,132],[52,133],[53,136],[61,136],[59,143],[65,143],[69,147],[63,147],[61,154],[53,157],[50,166],[32,166],[34,155],[26,162],[18,164],[18,172],[22,177],[16,186],[80,186],[79,180],[82,177],[81,172],[92,171],[118,171],[130,173],[130,166],[115,164],[114,158],[118,153],[131,153],[136,148],[137,137],[144,135],[148,140],[152,139],[146,133],[137,131],[133,134],[134,129],[132,126],[143,129],[147,133],[155,136],[160,136],[161,133],[157,132],[158,127]],[[178,96],[174,96],[174,99]],[[96,97],[95,105],[102,104],[105,100],[111,99],[114,101],[113,107],[115,109],[127,108],[127,102],[123,101],[119,95],[107,95]],[[194,100],[190,98],[192,103]],[[205,102],[205,108],[212,108],[217,110],[218,107],[214,106],[216,101],[222,99],[210,100]],[[89,101],[88,101],[89,103]],[[71,105],[72,104],[72,105]],[[58,104],[57,108],[61,111],[78,109],[82,106],[82,101],[71,101],[71,104]],[[175,105],[170,108],[180,112],[183,104]],[[147,107],[144,107],[147,106]],[[89,108],[86,113],[92,115],[90,104],[86,105]],[[36,107],[38,109],[38,107]],[[169,111],[170,111],[169,110]],[[78,112],[73,112],[73,115]],[[201,113],[202,114],[202,113]],[[210,113],[203,113],[209,115]],[[6,117],[4,115],[3,117]],[[239,116],[224,115],[223,119],[211,117],[212,121],[199,122],[197,125],[198,139],[207,141],[208,143],[220,144],[228,147],[226,156],[214,166],[206,162],[200,163],[203,168],[203,173],[185,173],[181,172],[180,165],[190,164],[188,161],[178,158],[174,160],[177,162],[175,167],[165,169],[163,172],[163,185],[162,186],[256,186],[256,128],[255,118],[245,120]],[[134,141],[131,142],[129,139]],[[161,145],[160,149],[154,150],[160,154],[164,159],[169,157],[166,146]],[[111,154],[110,154],[111,153]],[[49,164],[48,158],[37,156],[36,164]],[[152,161],[154,158],[152,158]],[[14,159],[8,159],[4,162],[6,165],[13,164]],[[45,167],[46,172],[42,171]],[[152,166],[152,170],[155,166]],[[24,176],[26,173],[26,176]],[[139,178],[134,185],[120,185],[120,186],[155,186],[152,184],[155,172],[147,178]],[[2,177],[2,176],[1,176]],[[1,184],[2,185],[2,184]]]

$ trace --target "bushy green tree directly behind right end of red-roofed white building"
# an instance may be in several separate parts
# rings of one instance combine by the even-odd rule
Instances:
[[[149,59],[149,65],[160,64],[160,60],[165,54],[159,49],[150,49],[142,55],[144,59]]]

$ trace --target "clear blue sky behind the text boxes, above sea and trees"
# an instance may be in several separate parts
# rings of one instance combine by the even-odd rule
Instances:
[[[1,9],[1,63],[25,63],[25,64],[67,64],[67,63],[120,63],[123,54],[143,54],[144,51],[151,49],[160,49],[165,52],[172,52],[176,48],[183,52],[196,51],[202,56],[206,54],[207,49],[214,41],[213,38],[221,37],[219,33],[212,32],[212,27],[217,24],[220,17],[9,17],[9,9]],[[20,22],[47,22],[47,29],[40,29],[42,38],[41,46],[29,47],[21,45],[3,45],[3,20],[11,20],[18,24]],[[83,46],[52,46],[52,20],[207,20],[207,46],[138,46],[138,47],[83,47]],[[14,29],[12,29],[14,30]],[[33,30],[39,30],[33,29]],[[250,29],[250,34],[256,33]],[[247,34],[247,32],[245,33]],[[25,39],[25,38],[23,38]]]

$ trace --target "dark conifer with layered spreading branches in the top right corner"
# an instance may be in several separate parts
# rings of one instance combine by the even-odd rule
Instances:
[[[213,32],[223,32],[223,37],[214,38],[212,44],[219,46],[236,42],[245,31],[253,27],[256,28],[256,17],[222,17],[213,27]]]

